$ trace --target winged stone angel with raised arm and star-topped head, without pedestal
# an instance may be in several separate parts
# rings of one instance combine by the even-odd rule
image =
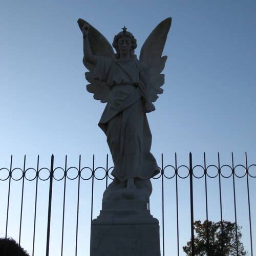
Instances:
[[[78,25],[83,34],[83,64],[89,70],[87,90],[106,102],[99,127],[106,135],[112,154],[114,184],[137,188],[139,181],[159,173],[151,154],[152,135],[146,113],[155,110],[152,102],[163,90],[167,56],[161,56],[172,18],[163,20],[148,36],[137,59],[133,34],[125,28],[114,37],[112,46],[106,38],[83,19]],[[139,186],[139,185],[138,185]]]

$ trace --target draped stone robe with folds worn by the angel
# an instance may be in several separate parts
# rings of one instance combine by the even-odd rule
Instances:
[[[112,154],[111,174],[120,181],[132,177],[150,179],[159,173],[150,153],[152,135],[144,112],[149,99],[145,97],[150,97],[150,74],[138,59],[117,61],[99,57],[94,71],[94,79],[106,82],[111,89],[98,124]]]

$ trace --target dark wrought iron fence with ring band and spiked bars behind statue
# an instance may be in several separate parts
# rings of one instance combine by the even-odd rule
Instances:
[[[216,183],[215,186],[218,186],[218,195],[216,193],[216,196],[218,197],[218,202],[219,202],[219,214],[220,214],[220,221],[223,222],[223,187],[222,187],[222,182],[223,179],[231,179],[232,180],[232,200],[233,200],[233,210],[230,209],[230,212],[233,212],[234,214],[234,221],[236,223],[236,232],[238,232],[237,228],[238,228],[238,221],[237,221],[237,210],[238,210],[238,206],[237,206],[237,198],[238,198],[238,194],[240,193],[239,187],[236,185],[236,182],[238,179],[243,179],[245,180],[245,186],[246,186],[246,198],[243,196],[243,201],[246,201],[246,205],[247,205],[247,209],[243,209],[244,211],[247,212],[247,216],[244,216],[244,219],[246,220],[246,222],[248,223],[248,239],[249,240],[249,247],[247,248],[247,250],[250,252],[251,255],[253,255],[253,238],[255,240],[255,234],[253,237],[253,232],[256,232],[255,227],[253,226],[253,223],[256,222],[256,215],[252,214],[252,210],[253,212],[255,211],[256,213],[256,206],[255,206],[255,199],[253,198],[253,195],[251,194],[251,189],[253,190],[252,193],[254,193],[255,191],[255,187],[256,187],[256,183],[255,183],[255,179],[256,178],[256,164],[250,164],[248,165],[247,162],[247,155],[245,154],[245,164],[238,164],[238,165],[234,165],[234,161],[233,161],[233,154],[231,155],[231,164],[224,164],[221,165],[220,164],[220,156],[218,154],[218,163],[217,165],[206,165],[206,157],[204,154],[204,163],[203,165],[193,165],[193,161],[192,161],[192,155],[191,153],[189,154],[189,165],[179,165],[177,164],[177,155],[175,154],[175,161],[173,164],[168,164],[168,165],[164,165],[163,164],[163,155],[161,156],[161,166],[160,168],[160,174],[157,177],[154,177],[152,180],[154,182],[154,180],[158,180],[160,182],[160,188],[158,186],[158,188],[155,188],[155,186],[153,186],[153,190],[161,190],[160,194],[161,194],[161,215],[160,215],[160,225],[161,225],[161,252],[162,255],[164,256],[169,255],[169,252],[166,252],[166,247],[168,246],[169,243],[169,239],[168,237],[166,238],[166,231],[165,231],[165,226],[166,226],[166,222],[170,222],[170,219],[168,218],[166,220],[166,210],[165,208],[167,208],[168,205],[168,197],[166,199],[165,196],[165,191],[166,189],[169,188],[168,185],[168,181],[169,180],[173,180],[175,183],[175,207],[172,208],[172,211],[175,212],[176,215],[176,241],[177,241],[177,249],[175,250],[175,255],[180,255],[181,254],[181,250],[180,250],[180,237],[182,236],[181,232],[180,232],[180,223],[182,223],[184,221],[184,217],[180,217],[180,210],[183,207],[182,203],[179,202],[180,199],[182,199],[182,193],[179,191],[179,180],[189,180],[188,186],[189,186],[189,219],[190,219],[190,236],[191,236],[191,242],[192,242],[192,246],[191,246],[191,255],[195,255],[195,245],[194,245],[194,212],[195,212],[195,205],[194,205],[194,199],[195,199],[195,187],[193,187],[193,185],[195,184],[195,182],[197,180],[202,180],[203,181],[203,187],[204,187],[204,191],[202,194],[204,194],[204,199],[205,202],[204,207],[205,210],[202,210],[205,212],[206,214],[206,220],[208,221],[208,214],[209,214],[209,188],[208,188],[208,183],[211,180],[217,180],[218,182]],[[52,202],[52,198],[53,198],[53,187],[54,187],[54,182],[60,182],[62,181],[63,186],[61,190],[61,194],[58,196],[59,200],[61,200],[62,202],[62,212],[61,212],[61,223],[62,223],[62,227],[61,227],[61,246],[60,246],[60,251],[59,254],[63,255],[65,254],[65,250],[63,248],[64,245],[64,236],[65,236],[65,214],[66,214],[66,203],[67,203],[67,198],[66,198],[66,189],[67,189],[67,181],[68,180],[76,180],[77,181],[77,194],[73,195],[72,200],[74,200],[74,198],[76,198],[76,209],[74,209],[76,211],[76,227],[75,227],[75,255],[79,255],[78,252],[78,236],[79,236],[79,232],[78,232],[78,227],[79,227],[79,214],[80,214],[80,202],[81,202],[81,194],[80,194],[80,190],[81,190],[81,182],[91,182],[91,191],[90,191],[90,195],[87,194],[87,202],[90,200],[91,206],[90,206],[90,218],[91,221],[93,219],[93,209],[94,209],[94,196],[95,193],[97,193],[97,191],[95,191],[95,184],[96,181],[105,181],[104,183],[104,187],[106,188],[108,186],[108,184],[113,180],[113,177],[111,176],[111,170],[112,170],[113,166],[109,166],[109,158],[108,156],[106,157],[106,165],[105,167],[96,167],[95,166],[95,159],[93,156],[93,161],[92,161],[92,165],[91,167],[83,167],[81,165],[81,156],[79,156],[79,162],[78,162],[78,166],[77,167],[68,167],[68,163],[67,163],[67,156],[66,156],[66,160],[65,160],[65,164],[63,165],[63,167],[59,167],[59,166],[55,166],[54,164],[54,156],[52,155],[51,157],[51,163],[50,163],[50,168],[48,167],[40,167],[40,163],[39,163],[39,156],[37,158],[37,166],[35,168],[33,167],[27,167],[26,164],[26,156],[24,158],[24,163],[23,163],[23,167],[13,167],[13,158],[11,157],[11,161],[10,161],[10,167],[2,167],[0,169],[0,180],[3,182],[8,183],[8,185],[6,186],[6,188],[8,189],[8,193],[7,193],[7,200],[6,200],[6,205],[2,205],[2,213],[5,211],[6,212],[6,219],[5,219],[5,238],[7,238],[8,236],[11,236],[11,233],[9,233],[9,206],[10,206],[10,194],[12,189],[15,187],[15,183],[16,181],[20,181],[22,182],[22,188],[21,188],[21,195],[20,196],[20,207],[16,208],[16,216],[19,218],[19,232],[18,232],[18,243],[20,244],[21,239],[22,239],[22,230],[23,230],[23,225],[24,225],[24,200],[25,200],[25,196],[24,196],[24,191],[25,191],[25,187],[27,182],[33,182],[33,184],[35,185],[35,191],[34,193],[32,193],[31,197],[30,197],[30,201],[33,201],[33,219],[31,219],[31,223],[33,223],[33,239],[31,241],[32,243],[32,249],[31,249],[31,253],[32,256],[34,256],[35,253],[35,240],[36,240],[36,227],[38,225],[37,223],[37,215],[38,215],[38,182],[48,182],[47,184],[49,184],[49,187],[46,191],[46,195],[47,195],[47,200],[48,200],[48,213],[47,213],[47,232],[46,232],[46,245],[45,247],[43,246],[42,248],[45,248],[46,250],[46,255],[51,255],[50,253],[50,243],[52,240],[51,237],[51,221],[53,219],[52,217],[52,206],[53,206],[53,202]],[[225,168],[225,172],[223,171],[223,169]],[[181,172],[181,169],[183,169],[183,171]],[[238,171],[239,169],[239,171]],[[241,171],[242,169],[242,171]],[[99,177],[98,172],[99,170],[101,170],[103,172],[103,176]],[[184,174],[184,170],[185,170],[185,174]],[[201,174],[197,175],[196,174],[196,170],[198,172],[198,170],[201,170]],[[228,171],[227,171],[228,170]],[[42,175],[43,172],[47,172],[47,175]],[[70,175],[70,173],[73,172],[73,176]],[[75,175],[74,175],[75,172]],[[228,174],[227,174],[228,172]],[[18,174],[19,173],[19,174]],[[59,175],[59,173],[61,173]],[[26,184],[25,184],[26,183]],[[1,183],[0,183],[1,184]],[[218,184],[218,185],[217,185]],[[167,188],[166,188],[167,187]],[[230,189],[229,189],[230,190]],[[159,192],[159,191],[158,191]],[[202,192],[202,190],[201,190]],[[230,192],[230,191],[229,191]],[[84,195],[82,195],[84,197]],[[255,196],[255,195],[254,195]],[[89,199],[90,198],[90,199]],[[251,198],[253,199],[253,201],[251,202]],[[158,204],[159,204],[159,200]],[[188,201],[187,201],[188,202]],[[201,200],[202,202],[202,200]],[[251,206],[253,207],[253,209],[251,210]],[[155,205],[154,202],[148,202],[148,209],[154,209]],[[175,208],[175,209],[174,209]],[[18,210],[17,210],[18,209]],[[216,210],[217,211],[217,210]],[[188,218],[188,214],[186,215]],[[167,216],[168,217],[168,216]],[[172,220],[173,221],[173,220]],[[174,232],[174,231],[173,231]],[[166,245],[166,239],[168,241],[167,245]],[[237,238],[238,239],[238,238]],[[238,240],[237,240],[238,243]],[[183,244],[184,245],[184,244]],[[239,255],[238,252],[238,246],[237,246],[237,255]],[[88,250],[89,252],[89,250]],[[86,253],[85,253],[86,254]]]

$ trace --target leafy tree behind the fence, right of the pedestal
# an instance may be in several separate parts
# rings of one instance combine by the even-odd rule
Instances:
[[[197,236],[194,238],[194,252],[195,255],[200,256],[243,256],[248,255],[244,249],[244,245],[241,242],[242,233],[240,232],[241,227],[237,226],[236,223],[229,221],[195,221],[194,230]],[[208,230],[208,231],[207,231]],[[183,251],[187,255],[192,255],[191,239],[187,242],[187,246],[183,246]],[[238,254],[237,254],[238,248]]]

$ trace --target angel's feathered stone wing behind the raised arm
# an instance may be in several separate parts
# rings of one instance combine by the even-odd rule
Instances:
[[[86,20],[79,18],[77,20],[79,28],[82,30],[82,26],[84,23],[89,24]],[[91,46],[92,53],[96,56],[105,56],[105,57],[112,57],[114,54],[113,48],[110,45],[109,41],[91,24],[89,30],[89,42]],[[104,103],[107,102],[110,95],[110,89],[106,82],[99,82],[93,78],[95,66],[91,65],[87,61],[84,61],[83,64],[89,70],[86,72],[86,79],[90,84],[87,85],[87,91],[93,93],[93,97],[100,102]]]

